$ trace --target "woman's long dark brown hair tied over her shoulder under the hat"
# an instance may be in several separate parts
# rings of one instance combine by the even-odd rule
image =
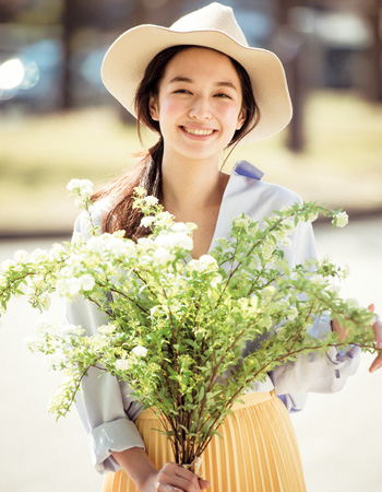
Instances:
[[[157,197],[159,202],[163,201],[162,189],[162,160],[164,153],[164,141],[160,133],[159,122],[155,121],[150,114],[150,99],[157,96],[159,83],[165,74],[167,63],[178,54],[186,49],[198,46],[181,45],[172,46],[160,51],[148,63],[143,79],[135,93],[135,112],[138,118],[138,132],[142,142],[141,126],[150,128],[158,133],[159,140],[151,147],[146,152],[141,154],[139,163],[131,169],[117,177],[99,191],[93,195],[92,200],[96,201],[100,198],[111,197],[111,206],[103,220],[103,232],[112,233],[114,231],[124,230],[126,236],[136,239],[146,234],[146,230],[141,226],[142,214],[132,208],[133,190],[136,186],[141,186],[147,190],[147,195]],[[199,46],[201,47],[201,46]],[[231,150],[240,142],[240,140],[251,131],[259,122],[259,107],[253,97],[250,78],[243,67],[232,58],[228,57],[232,62],[237,74],[240,79],[242,92],[242,109],[246,110],[246,121],[239,130],[236,130],[228,148]]]

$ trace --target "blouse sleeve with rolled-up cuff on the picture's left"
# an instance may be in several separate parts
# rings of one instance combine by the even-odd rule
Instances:
[[[99,218],[96,220],[99,221]],[[86,224],[87,219],[81,215],[74,227],[74,231],[83,234],[85,238]],[[67,306],[67,320],[81,326],[89,336],[96,333],[99,326],[108,323],[106,315],[82,296]],[[112,452],[131,447],[144,448],[143,440],[124,408],[127,395],[122,395],[122,390],[126,389],[126,385],[115,376],[91,367],[76,395],[76,408],[87,431],[92,461],[100,473],[120,469],[111,456]],[[131,402],[131,406],[134,403]]]

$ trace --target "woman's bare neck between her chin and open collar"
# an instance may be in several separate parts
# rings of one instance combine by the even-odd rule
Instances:
[[[163,194],[166,210],[176,216],[219,207],[228,176],[218,161],[163,160]]]

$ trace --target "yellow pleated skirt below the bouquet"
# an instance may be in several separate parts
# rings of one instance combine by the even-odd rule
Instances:
[[[235,403],[202,455],[202,477],[208,492],[305,492],[300,454],[284,403],[270,393],[251,393]],[[169,441],[153,410],[135,421],[150,458],[160,469],[174,461]],[[138,492],[124,471],[108,473],[103,492]]]

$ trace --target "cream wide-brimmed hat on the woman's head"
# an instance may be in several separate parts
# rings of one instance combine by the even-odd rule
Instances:
[[[291,104],[282,62],[272,51],[248,46],[232,9],[217,2],[182,16],[170,27],[143,24],[124,32],[104,58],[102,77],[106,89],[136,117],[135,92],[147,65],[158,52],[177,45],[215,49],[246,69],[260,121],[240,143],[264,139],[288,125]]]

